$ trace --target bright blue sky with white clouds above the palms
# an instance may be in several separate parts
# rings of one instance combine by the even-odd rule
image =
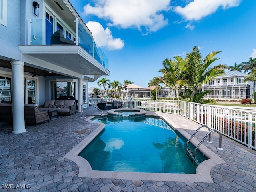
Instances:
[[[110,81],[147,87],[162,61],[198,46],[214,64],[256,57],[256,0],[70,0],[109,59]],[[101,77],[101,78],[102,78]],[[101,79],[99,78],[99,79]],[[98,80],[99,80],[98,79]],[[97,81],[89,87],[98,87]]]

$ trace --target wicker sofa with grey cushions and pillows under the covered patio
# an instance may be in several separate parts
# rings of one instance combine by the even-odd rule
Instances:
[[[75,100],[46,100],[39,106],[40,110],[58,110],[59,115],[76,114]]]

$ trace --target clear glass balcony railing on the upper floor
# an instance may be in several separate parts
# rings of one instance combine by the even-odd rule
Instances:
[[[54,28],[55,26],[55,28]],[[81,46],[102,66],[108,69],[108,57],[94,42],[88,29],[78,19],[31,19],[28,30],[28,45],[48,45],[52,34],[62,30],[64,38]]]

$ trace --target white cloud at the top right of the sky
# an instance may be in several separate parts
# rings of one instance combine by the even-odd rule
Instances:
[[[194,0],[185,7],[177,6],[175,12],[186,20],[200,20],[213,14],[218,8],[227,9],[238,6],[241,0]]]

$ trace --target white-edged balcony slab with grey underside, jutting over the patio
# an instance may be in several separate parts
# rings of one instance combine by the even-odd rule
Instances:
[[[110,74],[108,69],[79,45],[19,45],[19,49],[22,54],[30,55],[84,76]]]

